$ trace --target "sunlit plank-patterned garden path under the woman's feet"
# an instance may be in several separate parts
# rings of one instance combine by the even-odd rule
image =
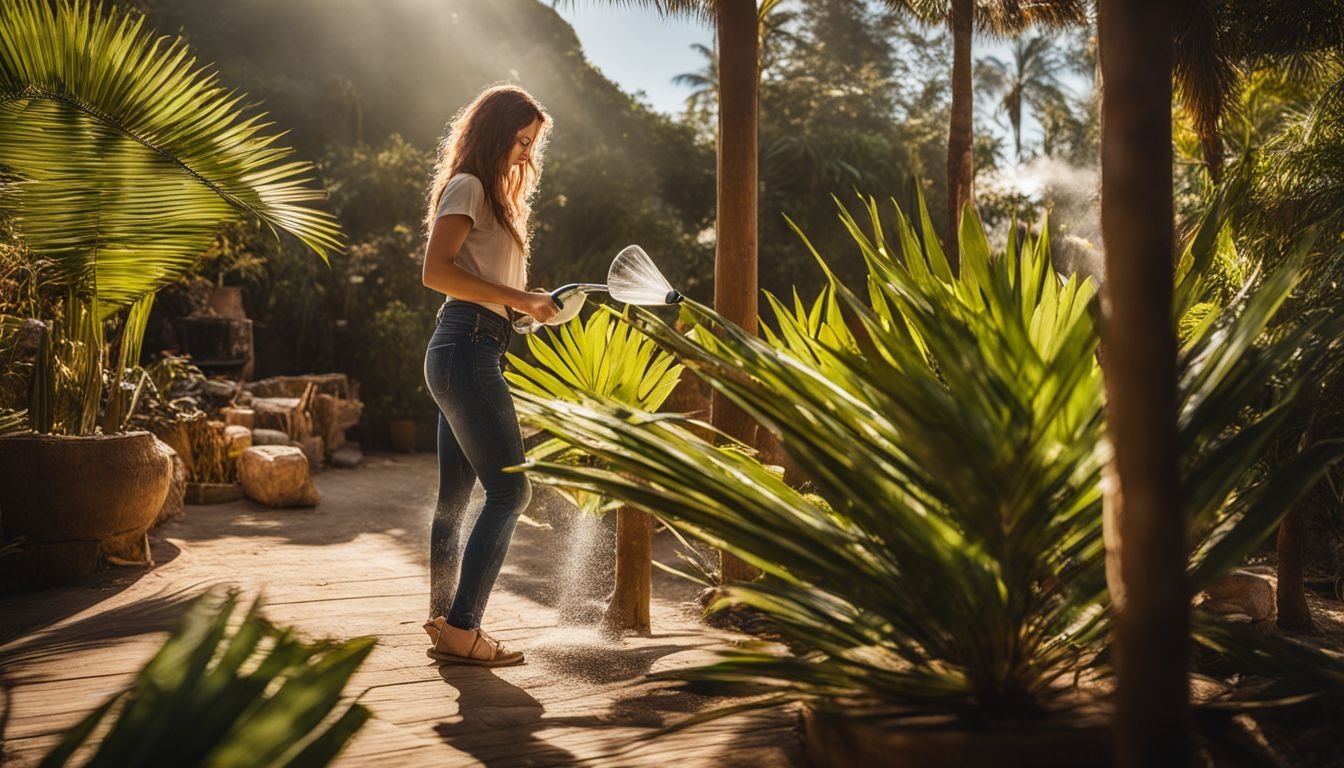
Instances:
[[[347,689],[374,717],[337,765],[806,764],[793,712],[633,741],[726,703],[632,683],[703,662],[732,636],[700,623],[689,603],[694,584],[661,572],[655,572],[652,636],[602,640],[562,621],[556,600],[569,572],[570,526],[544,494],[517,529],[485,617],[528,663],[497,670],[430,663],[419,625],[435,472],[429,455],[374,455],[358,469],[317,475],[323,502],[314,510],[246,500],[187,507],[152,533],[153,569],[0,596],[0,685],[9,705],[0,763],[36,764],[62,729],[133,678],[188,600],[212,585],[237,585],[265,596],[267,617],[310,638],[378,638]],[[660,558],[672,557],[665,535]]]

